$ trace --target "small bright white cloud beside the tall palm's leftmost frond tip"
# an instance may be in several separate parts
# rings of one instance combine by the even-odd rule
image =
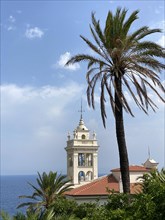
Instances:
[[[68,66],[65,66],[66,62],[71,58],[71,53],[66,52],[62,54],[57,62],[57,64],[53,65],[52,67],[54,68],[62,68],[62,69],[67,69],[67,70],[72,70],[75,71],[80,68],[80,65],[78,63],[75,64],[70,64]]]

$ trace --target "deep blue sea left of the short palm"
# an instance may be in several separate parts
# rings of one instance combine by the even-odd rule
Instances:
[[[17,209],[20,203],[26,199],[20,199],[21,195],[32,195],[33,189],[27,183],[36,185],[36,175],[31,176],[1,176],[0,177],[0,210],[4,210],[10,216],[17,212],[25,213],[26,208]]]

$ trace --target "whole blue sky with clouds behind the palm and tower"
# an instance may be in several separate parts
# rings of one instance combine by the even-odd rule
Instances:
[[[107,105],[103,128],[99,93],[96,109],[86,101],[86,65],[65,67],[71,55],[91,53],[80,34],[91,38],[91,12],[104,26],[109,10],[139,9],[132,30],[143,25],[164,29],[164,1],[1,1],[1,174],[66,173],[67,132],[80,118],[81,97],[86,126],[96,131],[99,172],[119,167],[114,119]],[[150,40],[161,45],[163,34]],[[162,73],[161,81],[164,81]],[[98,90],[99,91],[99,90]],[[125,114],[130,164],[148,157],[164,165],[164,105],[154,94],[157,113],[146,116],[130,99],[135,118]]]

